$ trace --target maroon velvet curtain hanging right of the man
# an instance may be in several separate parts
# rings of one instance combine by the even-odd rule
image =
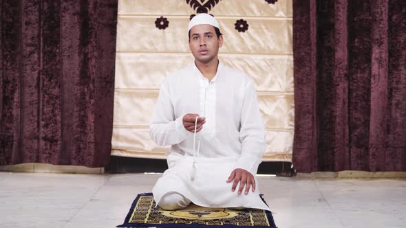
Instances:
[[[406,1],[293,1],[297,172],[406,171]]]

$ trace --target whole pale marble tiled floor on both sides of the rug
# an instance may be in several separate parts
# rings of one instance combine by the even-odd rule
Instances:
[[[0,227],[115,227],[159,176],[0,172]],[[404,179],[258,178],[279,228],[406,227]]]

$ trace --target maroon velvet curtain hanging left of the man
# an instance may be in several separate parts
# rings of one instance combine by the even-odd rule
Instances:
[[[108,166],[117,1],[1,1],[0,165]]]

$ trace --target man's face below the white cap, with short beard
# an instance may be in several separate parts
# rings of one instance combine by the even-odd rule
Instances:
[[[217,56],[223,44],[223,36],[217,38],[212,25],[195,25],[190,34],[189,48],[196,60],[207,63]]]

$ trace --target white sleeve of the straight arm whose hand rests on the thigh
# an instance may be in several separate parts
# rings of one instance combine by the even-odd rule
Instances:
[[[265,152],[266,131],[259,113],[257,93],[252,80],[246,84],[240,124],[239,139],[242,141],[242,152],[235,168],[242,168],[255,175]]]

